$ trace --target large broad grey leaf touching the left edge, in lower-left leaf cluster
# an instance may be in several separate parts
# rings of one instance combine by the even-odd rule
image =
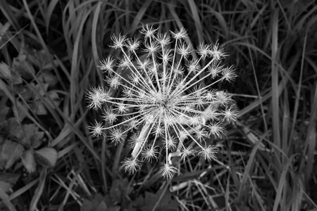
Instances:
[[[19,143],[6,139],[0,146],[0,168],[4,167],[6,170],[10,168],[20,155],[23,153],[23,146]]]

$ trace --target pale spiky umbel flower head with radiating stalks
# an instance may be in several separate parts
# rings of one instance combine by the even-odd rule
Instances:
[[[141,161],[163,155],[161,172],[170,178],[177,172],[174,156],[216,159],[210,140],[220,138],[225,133],[221,123],[234,121],[237,113],[230,106],[230,95],[213,87],[236,75],[233,66],[220,65],[227,55],[218,43],[194,49],[185,41],[183,28],[157,31],[146,25],[140,30],[143,40],[122,34],[111,37],[111,47],[120,56],[108,56],[99,65],[108,86],[87,93],[89,108],[103,109],[107,124],[95,122],[89,129],[92,136],[107,134],[112,143],[128,137],[133,149],[123,161],[125,171],[135,173]]]

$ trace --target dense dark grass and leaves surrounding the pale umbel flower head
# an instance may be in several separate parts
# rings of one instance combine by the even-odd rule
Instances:
[[[0,9],[0,210],[317,209],[314,1],[20,0],[0,1]],[[235,65],[237,78],[210,88],[225,90],[227,109],[239,115],[206,140],[218,150],[213,159],[166,161],[158,151],[128,174],[122,161],[132,134],[117,145],[111,130],[97,136],[87,125],[103,117],[89,109],[99,107],[89,96],[99,87],[121,96],[101,69],[123,58],[111,48],[118,34],[141,38],[147,26],[158,34],[186,29],[189,61],[201,56],[199,44],[223,44],[223,64]],[[204,76],[198,89],[213,82]],[[163,178],[169,161],[173,175]]]

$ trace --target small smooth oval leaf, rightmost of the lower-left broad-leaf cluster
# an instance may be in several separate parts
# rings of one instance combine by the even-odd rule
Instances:
[[[46,167],[54,167],[57,158],[58,153],[54,148],[45,147],[35,151],[35,160]]]

